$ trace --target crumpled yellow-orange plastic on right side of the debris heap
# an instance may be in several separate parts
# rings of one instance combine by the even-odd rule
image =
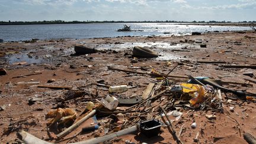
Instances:
[[[193,97],[190,100],[190,104],[193,106],[195,104],[200,104],[204,101],[204,88],[201,85],[196,84],[181,84],[181,87],[183,87],[183,92],[188,93],[191,97]]]

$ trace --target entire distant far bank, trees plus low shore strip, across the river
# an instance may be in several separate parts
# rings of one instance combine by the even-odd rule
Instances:
[[[256,27],[256,21],[253,22],[223,22],[223,21],[0,21],[0,25],[34,25],[34,24],[106,24],[106,23],[171,23],[183,25],[219,25],[219,26],[240,26]]]

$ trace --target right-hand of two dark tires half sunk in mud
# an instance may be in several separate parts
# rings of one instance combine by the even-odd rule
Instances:
[[[146,47],[135,46],[133,47],[133,56],[139,58],[153,58],[158,57],[158,53]]]

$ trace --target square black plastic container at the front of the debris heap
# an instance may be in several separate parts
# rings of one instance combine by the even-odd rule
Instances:
[[[164,124],[159,120],[146,120],[140,123],[140,132],[147,137],[158,136],[161,126]]]

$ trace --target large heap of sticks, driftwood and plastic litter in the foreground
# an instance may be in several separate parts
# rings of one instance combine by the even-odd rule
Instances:
[[[183,123],[180,120],[183,117],[183,110],[210,111],[212,114],[206,114],[206,117],[211,121],[216,120],[216,113],[223,113],[225,108],[223,92],[225,95],[227,92],[232,93],[229,97],[243,101],[252,100],[255,97],[255,95],[249,96],[250,94],[244,91],[222,87],[221,81],[208,77],[178,76],[178,78],[188,79],[186,82],[180,82],[175,79],[175,76],[169,75],[177,66],[178,63],[167,75],[161,75],[154,69],[151,73],[135,72],[156,76],[161,80],[155,83],[150,82],[143,94],[139,96],[124,98],[120,95],[129,89],[135,89],[136,86],[109,86],[100,83],[101,81],[95,85],[108,88],[107,96],[101,99],[99,97],[85,98],[84,95],[87,92],[70,90],[67,94],[73,94],[72,97],[79,98],[79,100],[84,98],[87,106],[79,114],[76,114],[76,111],[71,108],[64,108],[65,106],[50,111],[46,118],[52,118],[52,120],[47,123],[47,130],[50,132],[57,129],[59,132],[56,137],[52,137],[52,140],[55,139],[55,143],[65,140],[69,142],[76,136],[89,132],[92,132],[95,138],[80,143],[101,143],[129,133],[141,133],[147,137],[153,137],[161,135],[161,127],[164,126],[169,127],[169,132],[177,143],[183,143],[180,139],[183,133],[182,127],[178,133],[172,126],[173,121]],[[112,67],[108,69],[127,72],[127,70]],[[68,97],[65,98],[69,100]],[[76,135],[63,139],[91,118],[94,120],[92,126],[84,127]],[[191,127],[196,128],[197,123],[194,121],[191,123]],[[194,142],[199,142],[200,133],[203,131],[197,133]],[[25,143],[46,143],[23,130],[18,135]]]

